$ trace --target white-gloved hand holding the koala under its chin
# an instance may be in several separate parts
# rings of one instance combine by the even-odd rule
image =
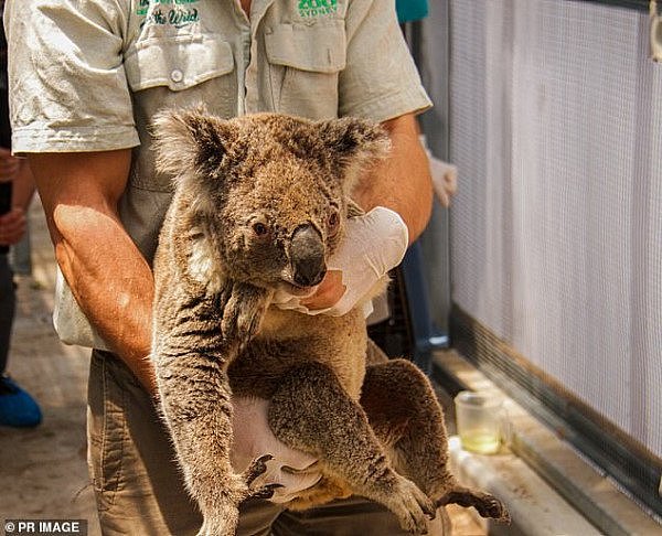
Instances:
[[[402,217],[383,206],[350,218],[345,236],[328,261],[327,276],[305,297],[276,292],[274,303],[307,314],[342,317],[403,259],[408,244]]]

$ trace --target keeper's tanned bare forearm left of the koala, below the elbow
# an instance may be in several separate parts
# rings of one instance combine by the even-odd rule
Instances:
[[[107,214],[60,205],[54,222],[61,236],[55,257],[81,309],[139,382],[156,393],[147,358],[153,296],[149,266]]]

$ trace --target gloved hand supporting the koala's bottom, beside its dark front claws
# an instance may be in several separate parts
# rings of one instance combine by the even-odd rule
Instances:
[[[269,400],[236,397],[232,406],[233,443],[229,458],[235,472],[243,473],[256,458],[273,455],[267,461],[267,471],[255,479],[253,487],[281,484],[282,487],[277,487],[269,501],[287,503],[320,480],[321,473],[314,467],[316,458],[290,449],[271,432],[267,420]]]

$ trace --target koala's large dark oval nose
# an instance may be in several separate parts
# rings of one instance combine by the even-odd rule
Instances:
[[[297,285],[313,287],[324,278],[324,243],[312,225],[301,225],[295,231],[290,245],[290,260]]]

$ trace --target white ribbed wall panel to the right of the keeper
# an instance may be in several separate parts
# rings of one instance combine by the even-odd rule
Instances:
[[[451,0],[452,300],[662,457],[662,64],[648,17]]]

